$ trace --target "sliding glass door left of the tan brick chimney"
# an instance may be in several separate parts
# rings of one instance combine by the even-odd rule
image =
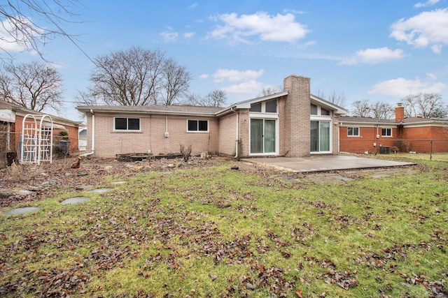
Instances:
[[[251,154],[275,153],[275,132],[275,120],[251,119]]]

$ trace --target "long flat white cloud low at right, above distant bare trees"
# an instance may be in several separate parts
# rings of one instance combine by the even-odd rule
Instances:
[[[394,80],[386,80],[375,84],[370,94],[379,94],[384,96],[403,97],[409,94],[422,93],[441,93],[448,86],[442,82],[423,82],[418,77],[414,80],[407,80],[398,77]]]

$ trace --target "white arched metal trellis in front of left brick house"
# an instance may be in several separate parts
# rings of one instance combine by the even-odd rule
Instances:
[[[53,121],[50,116],[27,114],[22,121],[20,135],[20,163],[52,163]]]

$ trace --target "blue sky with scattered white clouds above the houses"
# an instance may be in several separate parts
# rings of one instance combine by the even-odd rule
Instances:
[[[345,96],[347,110],[419,92],[448,103],[448,0],[81,3],[64,24],[76,45],[58,37],[41,49],[62,75],[58,116],[74,121],[83,120],[73,100],[91,84],[91,59],[131,47],[166,52],[193,76],[190,93],[222,89],[228,105],[293,74],[311,78],[311,94]],[[7,46],[16,62],[40,59]]]

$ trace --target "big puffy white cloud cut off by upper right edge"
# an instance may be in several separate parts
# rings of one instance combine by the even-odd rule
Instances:
[[[392,24],[391,29],[391,37],[415,47],[432,45],[433,52],[440,54],[442,45],[448,45],[448,8],[401,19]]]

